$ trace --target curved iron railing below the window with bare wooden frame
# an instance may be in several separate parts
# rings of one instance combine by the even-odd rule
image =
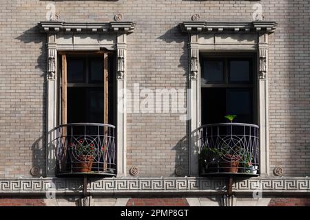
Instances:
[[[115,126],[74,123],[55,131],[56,175],[116,175]]]

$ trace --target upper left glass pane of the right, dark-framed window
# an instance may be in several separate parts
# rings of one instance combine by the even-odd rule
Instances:
[[[204,61],[203,63],[205,83],[223,82],[223,61]]]

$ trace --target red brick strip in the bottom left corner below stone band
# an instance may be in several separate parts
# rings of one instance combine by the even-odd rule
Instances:
[[[0,198],[0,206],[45,206],[44,199]]]

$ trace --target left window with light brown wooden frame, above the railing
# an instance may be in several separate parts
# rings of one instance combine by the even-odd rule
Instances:
[[[115,124],[113,54],[63,54],[61,124]]]

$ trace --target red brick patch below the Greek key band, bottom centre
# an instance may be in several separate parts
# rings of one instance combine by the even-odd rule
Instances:
[[[185,198],[137,198],[129,199],[126,206],[189,206]]]

